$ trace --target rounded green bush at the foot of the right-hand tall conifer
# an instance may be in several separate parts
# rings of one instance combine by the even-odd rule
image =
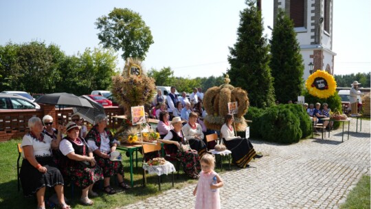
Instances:
[[[263,140],[291,144],[302,137],[300,120],[285,105],[270,107],[260,118],[260,134]]]

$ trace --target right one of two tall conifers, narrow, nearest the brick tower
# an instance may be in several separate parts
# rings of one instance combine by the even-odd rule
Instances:
[[[296,39],[293,21],[279,9],[271,43],[271,75],[274,78],[276,100],[286,103],[296,100],[304,87],[304,65],[300,45]]]

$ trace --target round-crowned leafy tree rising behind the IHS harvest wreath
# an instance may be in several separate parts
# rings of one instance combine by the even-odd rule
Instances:
[[[144,60],[153,37],[150,28],[137,12],[127,8],[114,8],[108,16],[102,16],[95,22],[98,39],[104,48],[122,50],[124,60],[128,57]]]

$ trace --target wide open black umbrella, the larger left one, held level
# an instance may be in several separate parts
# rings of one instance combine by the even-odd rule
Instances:
[[[68,105],[71,107],[90,107],[93,106],[86,98],[80,98],[74,94],[68,93],[53,93],[45,94],[35,100],[36,103],[54,104],[54,105]]]

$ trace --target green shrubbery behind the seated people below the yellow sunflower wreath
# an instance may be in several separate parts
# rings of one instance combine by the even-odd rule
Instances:
[[[339,97],[337,92],[335,92],[333,96],[330,96],[329,98],[326,98],[326,99],[317,98],[316,96],[312,96],[311,94],[308,93],[308,91],[304,91],[303,95],[305,97],[305,102],[308,104],[315,104],[319,102],[322,105],[324,104],[324,102],[326,102],[328,104],[328,108],[330,108],[331,111],[333,112],[339,111],[342,113],[341,98]],[[340,126],[340,122],[335,121],[333,126],[334,126],[334,129],[337,129]]]

